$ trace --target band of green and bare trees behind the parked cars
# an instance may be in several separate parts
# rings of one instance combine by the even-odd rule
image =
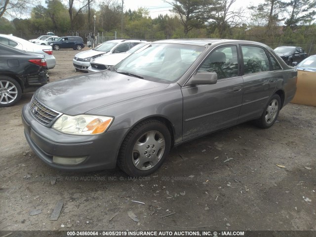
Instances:
[[[25,39],[46,31],[86,37],[94,31],[95,15],[97,33],[117,32],[119,38],[244,39],[270,46],[310,43],[314,50],[316,0],[264,0],[240,8],[233,7],[241,0],[164,1],[172,7],[170,13],[151,18],[144,7],[122,11],[120,0],[45,0],[45,6],[37,0],[1,0],[0,33]]]

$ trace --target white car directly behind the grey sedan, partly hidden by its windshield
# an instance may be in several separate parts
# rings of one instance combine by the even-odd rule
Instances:
[[[122,61],[124,58],[128,57],[132,53],[140,52],[141,50],[147,48],[149,45],[149,42],[139,43],[125,53],[113,53],[109,55],[105,54],[92,59],[92,61],[90,62],[90,66],[88,67],[88,72],[96,73],[110,69],[112,66],[118,64],[120,61]]]

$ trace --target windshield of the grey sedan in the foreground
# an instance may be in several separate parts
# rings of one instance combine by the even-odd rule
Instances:
[[[131,54],[113,70],[146,80],[172,83],[187,72],[205,49],[196,45],[152,43],[143,51]]]

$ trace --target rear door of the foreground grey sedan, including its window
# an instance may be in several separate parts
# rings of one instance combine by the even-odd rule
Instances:
[[[270,69],[269,57],[273,56],[265,48],[254,44],[241,44],[240,51],[244,92],[238,123],[260,117],[276,88],[276,81],[282,79],[281,73]]]

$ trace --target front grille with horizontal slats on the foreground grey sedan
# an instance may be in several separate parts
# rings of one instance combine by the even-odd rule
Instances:
[[[61,115],[56,111],[53,111],[46,106],[42,105],[34,96],[30,103],[30,113],[41,124],[46,127],[52,125],[52,123]]]

